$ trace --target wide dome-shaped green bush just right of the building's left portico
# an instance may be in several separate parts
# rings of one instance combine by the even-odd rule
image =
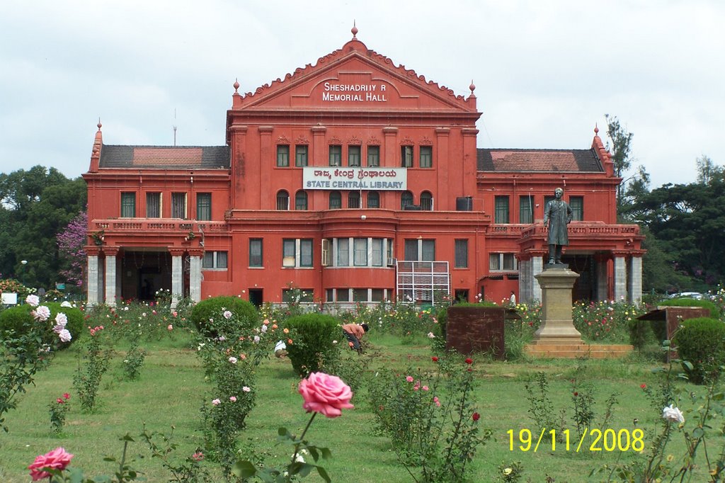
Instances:
[[[253,329],[259,322],[259,314],[251,302],[228,296],[212,297],[194,305],[191,310],[191,321],[199,334],[205,337],[217,337],[220,330],[225,331],[222,315],[224,310],[234,314],[234,323],[239,324],[236,330]],[[214,322],[210,322],[210,319]]]

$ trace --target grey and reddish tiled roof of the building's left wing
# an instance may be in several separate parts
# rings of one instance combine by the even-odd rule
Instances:
[[[115,146],[101,147],[100,168],[227,169],[228,146]]]

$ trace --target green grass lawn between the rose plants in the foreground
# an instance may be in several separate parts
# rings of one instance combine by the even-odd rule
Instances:
[[[370,334],[371,350],[379,351],[370,371],[394,368],[400,371],[408,366],[433,369],[431,352],[425,337],[401,341],[386,334]],[[123,349],[115,355],[109,372],[104,376],[99,391],[100,407],[92,414],[81,413],[78,397],[72,390],[72,375],[77,367],[73,349],[60,352],[47,371],[36,377],[35,387],[28,388],[22,395],[18,408],[7,414],[9,433],[0,434],[0,481],[28,482],[28,470],[36,455],[62,446],[75,455],[73,466],[84,469],[87,476],[111,474],[110,463],[102,461],[104,455],[120,456],[123,444],[118,440],[125,433],[137,435],[146,426],[155,431],[170,432],[175,426],[175,438],[180,447],[178,457],[190,455],[202,445],[202,436],[197,431],[199,407],[204,392],[211,384],[204,381],[204,373],[196,358],[196,351],[189,348],[188,340],[177,339],[142,344],[149,355],[141,369],[138,381],[120,379],[120,363]],[[526,400],[524,384],[537,371],[544,371],[550,382],[550,397],[556,411],[566,408],[568,427],[575,426],[573,415],[571,379],[592,381],[596,388],[596,421],[600,421],[605,409],[605,400],[613,392],[620,392],[619,404],[615,407],[614,429],[645,430],[645,443],[655,437],[661,411],[650,408],[642,394],[640,384],[654,387],[657,376],[651,369],[658,363],[631,358],[629,360],[526,360],[506,363],[476,358],[473,365],[479,382],[476,389],[481,426],[492,429],[493,439],[479,449],[472,466],[475,482],[492,482],[497,479],[497,468],[502,462],[523,463],[523,481],[542,482],[545,475],[561,482],[585,482],[592,468],[605,463],[626,461],[629,458],[644,458],[632,453],[592,453],[582,450],[576,453],[576,441],[569,452],[558,444],[552,451],[551,444],[539,446],[537,453],[529,450],[509,450],[509,429],[515,434],[524,428],[535,432],[534,422],[529,418],[529,402]],[[276,429],[286,426],[299,434],[309,415],[302,409],[302,397],[297,393],[299,379],[291,368],[289,360],[270,358],[262,363],[257,376],[257,405],[247,418],[247,429],[241,432],[240,446],[254,447],[264,454],[268,461],[282,463],[289,458],[289,445],[276,445]],[[684,389],[703,392],[695,387],[678,382]],[[63,392],[72,395],[72,408],[67,416],[65,431],[60,436],[51,433],[47,405]],[[364,390],[363,390],[364,392]],[[358,394],[352,401],[354,410],[344,410],[343,416],[334,419],[315,418],[307,439],[313,444],[329,447],[333,458],[324,461],[335,482],[410,482],[413,479],[397,462],[389,440],[376,431],[373,414],[368,409],[364,394]],[[687,405],[684,405],[687,408]],[[686,413],[686,418],[689,416]],[[718,447],[719,448],[719,447]],[[684,447],[676,441],[670,448],[678,458]],[[159,461],[152,460],[148,448],[140,439],[130,447],[131,455],[145,458],[133,463],[135,468],[145,472],[149,482],[166,482],[168,474]],[[702,464],[702,461],[698,461]],[[218,481],[223,481],[218,469]],[[702,475],[703,473],[700,473]],[[316,474],[310,481],[322,481]],[[595,480],[595,481],[598,481]],[[700,481],[704,481],[700,480]]]

